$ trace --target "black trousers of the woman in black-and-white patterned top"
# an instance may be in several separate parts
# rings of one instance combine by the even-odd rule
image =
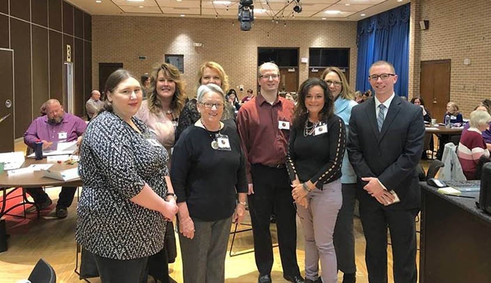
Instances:
[[[137,283],[145,271],[148,257],[139,259],[108,259],[94,254],[102,283]]]

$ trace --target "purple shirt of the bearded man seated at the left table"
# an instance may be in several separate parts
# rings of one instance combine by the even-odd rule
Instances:
[[[63,121],[58,125],[48,123],[48,116],[40,116],[29,125],[24,132],[24,143],[31,148],[37,139],[53,142],[49,150],[55,150],[59,142],[73,142],[81,136],[87,124],[81,118],[70,113],[63,115]]]

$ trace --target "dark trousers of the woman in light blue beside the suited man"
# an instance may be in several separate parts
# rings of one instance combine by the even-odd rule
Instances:
[[[343,184],[343,206],[338,213],[334,227],[334,248],[338,260],[338,270],[343,273],[356,273],[354,264],[353,215],[357,183]]]

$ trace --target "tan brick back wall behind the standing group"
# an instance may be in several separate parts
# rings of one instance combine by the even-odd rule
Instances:
[[[231,87],[256,89],[258,47],[299,47],[299,57],[308,57],[309,47],[348,47],[350,82],[356,82],[356,22],[289,21],[284,26],[258,20],[247,32],[240,31],[236,20],[220,19],[93,16],[92,24],[94,88],[98,63],[123,63],[139,76],[164,61],[165,54],[184,54],[188,92],[194,91],[198,67],[205,61],[220,63]],[[139,55],[148,59],[141,61]],[[299,82],[308,77],[308,68],[299,63]]]

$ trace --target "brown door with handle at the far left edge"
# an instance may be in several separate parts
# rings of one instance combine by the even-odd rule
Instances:
[[[14,51],[0,48],[0,152],[14,151]]]

